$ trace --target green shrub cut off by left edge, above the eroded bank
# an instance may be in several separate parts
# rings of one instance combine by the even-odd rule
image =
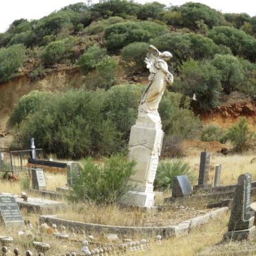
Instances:
[[[0,83],[10,80],[26,60],[25,47],[12,45],[0,49]]]

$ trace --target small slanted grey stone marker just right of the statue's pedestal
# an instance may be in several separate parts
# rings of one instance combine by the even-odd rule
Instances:
[[[173,178],[173,198],[182,198],[192,193],[191,184],[187,175],[179,175]]]

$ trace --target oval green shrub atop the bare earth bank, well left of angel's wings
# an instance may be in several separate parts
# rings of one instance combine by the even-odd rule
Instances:
[[[78,58],[77,65],[83,74],[87,74],[100,62],[100,60],[107,54],[105,48],[100,48],[98,45],[93,45]]]

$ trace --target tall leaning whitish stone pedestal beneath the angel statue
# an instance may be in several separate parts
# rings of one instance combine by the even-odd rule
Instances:
[[[129,139],[129,158],[136,161],[135,173],[129,182],[132,191],[122,199],[122,203],[153,206],[153,181],[156,177],[163,136],[160,116],[139,112],[136,125],[131,127]]]

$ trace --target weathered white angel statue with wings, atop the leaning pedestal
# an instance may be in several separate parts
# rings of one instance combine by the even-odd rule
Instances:
[[[142,94],[139,114],[158,114],[158,105],[164,94],[167,83],[173,83],[173,75],[168,70],[167,61],[172,57],[171,52],[159,52],[153,45],[149,46],[149,52],[145,63],[149,69],[149,84]]]

